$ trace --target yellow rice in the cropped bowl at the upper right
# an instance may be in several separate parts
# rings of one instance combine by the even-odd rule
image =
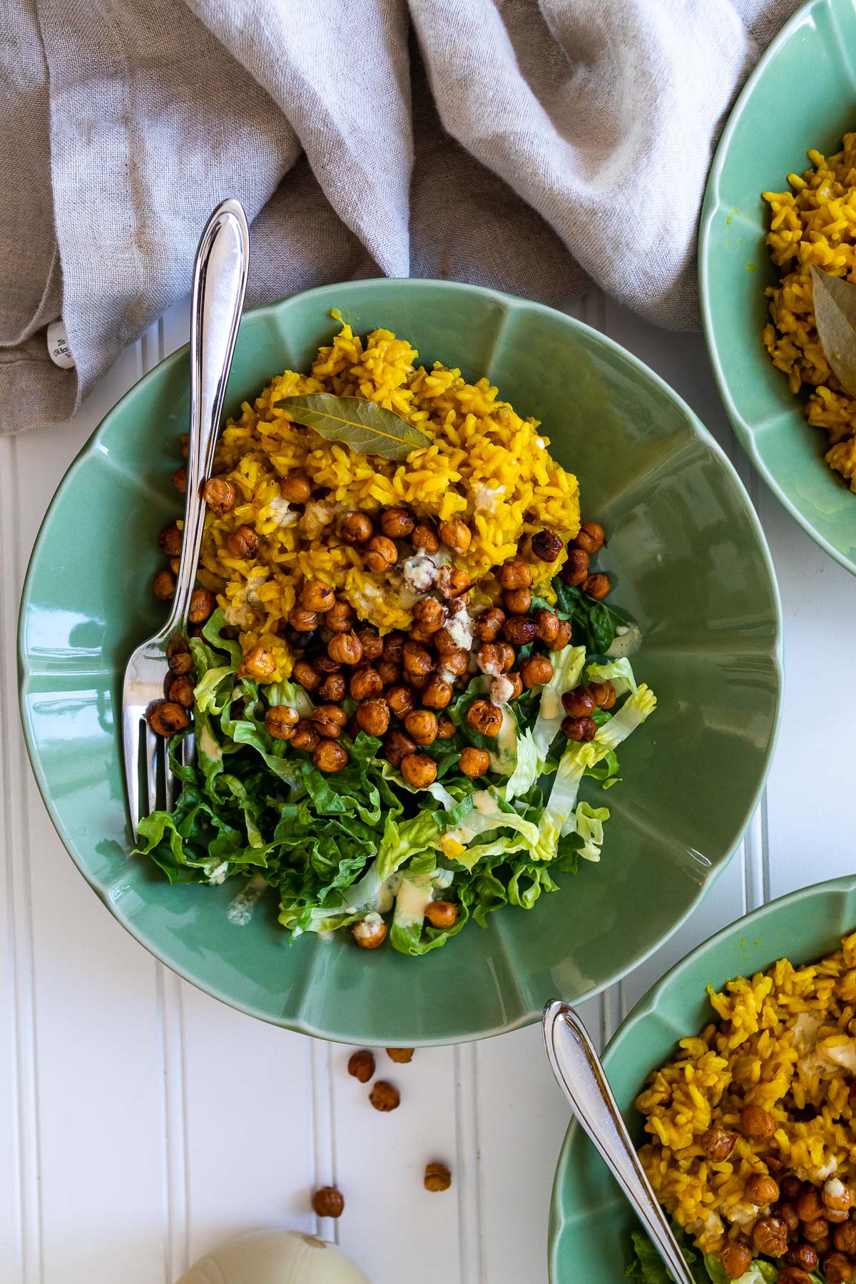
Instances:
[[[809,152],[811,168],[788,175],[792,191],[765,191],[771,222],[767,245],[780,270],[767,289],[771,321],[764,345],[784,371],[791,390],[812,390],[806,417],[829,434],[826,462],[856,492],[856,399],[833,374],[820,345],[811,290],[811,265],[856,282],[856,134],[846,134],[833,157]]]

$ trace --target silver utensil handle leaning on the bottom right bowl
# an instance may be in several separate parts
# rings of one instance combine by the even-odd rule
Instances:
[[[574,1008],[554,1000],[544,1008],[543,1031],[547,1059],[580,1126],[630,1201],[676,1284],[694,1284],[639,1162],[585,1026]]]

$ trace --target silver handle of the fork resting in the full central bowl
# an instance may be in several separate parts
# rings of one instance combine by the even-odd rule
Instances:
[[[187,632],[187,611],[205,524],[203,492],[214,461],[219,416],[246,293],[249,229],[240,202],[223,200],[199,240],[190,317],[187,501],[176,594],[167,629]]]

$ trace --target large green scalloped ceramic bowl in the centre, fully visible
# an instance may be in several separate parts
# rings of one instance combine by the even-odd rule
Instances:
[[[747,496],[692,411],[601,334],[549,308],[440,281],[352,281],[248,313],[227,410],[305,369],[339,307],[424,360],[488,374],[538,416],[610,533],[615,600],[644,633],[660,709],[621,755],[602,864],[535,910],[503,910],[420,959],[347,937],[293,946],[232,886],[169,887],[128,856],[119,682],[160,619],[149,583],[187,422],[187,353],[146,375],[72,465],[33,551],[21,611],[23,722],[54,823],[113,913],[182,976],[278,1025],[354,1043],[475,1039],[534,1021],[547,998],[610,985],[687,917],[729,859],[764,783],[779,709],[779,605]]]

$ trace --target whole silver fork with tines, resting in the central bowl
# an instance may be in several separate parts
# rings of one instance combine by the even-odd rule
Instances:
[[[159,759],[167,809],[171,810],[175,804],[176,779],[169,765],[169,745],[163,736],[151,731],[145,715],[151,704],[164,697],[169,642],[180,643],[187,636],[187,611],[205,521],[203,490],[213,466],[226,381],[244,306],[248,263],[246,216],[237,200],[225,200],[208,220],[194,262],[187,499],[176,594],[164,627],[139,646],[128,660],[122,687],[124,781],[131,831],[135,835],[140,819],[158,805]],[[191,736],[185,737],[180,750],[182,761],[189,763],[193,754]],[[142,808],[141,777],[145,781]]]

